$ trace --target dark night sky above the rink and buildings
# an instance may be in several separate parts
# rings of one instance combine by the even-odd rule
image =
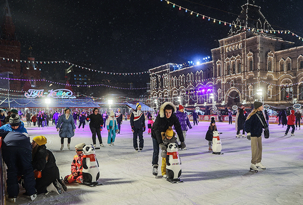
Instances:
[[[8,2],[22,45],[22,60],[26,60],[32,46],[37,61],[91,62],[95,69],[103,71],[142,72],[169,62],[196,61],[211,56],[210,50],[218,46],[217,40],[229,31],[229,26],[203,20],[183,9],[179,11],[164,0]],[[232,22],[247,0],[172,2]],[[274,29],[287,29],[303,36],[301,0],[255,0],[255,4]],[[0,6],[2,11],[4,0]],[[300,42],[290,35],[279,37]],[[54,79],[51,69],[41,69],[43,77]],[[149,75],[145,75],[141,79],[148,82]],[[138,79],[125,79],[134,80]]]

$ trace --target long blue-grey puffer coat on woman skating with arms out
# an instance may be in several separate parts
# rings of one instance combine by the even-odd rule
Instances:
[[[67,138],[71,138],[75,135],[75,132],[73,131],[73,129],[76,129],[75,126],[75,121],[73,116],[70,114],[71,110],[69,109],[69,116],[68,119],[66,120],[66,109],[69,109],[68,107],[66,107],[64,110],[64,114],[60,116],[59,121],[57,123],[56,128],[60,128],[59,130],[59,136],[60,137],[67,137]]]

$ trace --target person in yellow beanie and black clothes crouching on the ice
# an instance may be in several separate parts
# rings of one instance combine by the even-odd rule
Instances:
[[[55,191],[58,194],[66,191],[65,184],[60,180],[59,168],[53,153],[46,149],[47,139],[44,136],[33,138],[32,165],[34,171],[41,171],[41,177],[36,178],[37,194]]]

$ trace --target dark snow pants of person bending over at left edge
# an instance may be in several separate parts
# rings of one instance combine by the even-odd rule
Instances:
[[[9,198],[19,194],[18,174],[24,176],[24,187],[29,196],[36,193],[32,153],[24,147],[2,146],[3,160],[7,165],[7,193]]]

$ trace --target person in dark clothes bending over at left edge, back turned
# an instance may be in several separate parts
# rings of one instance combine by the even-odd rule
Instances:
[[[16,114],[14,114],[16,115]],[[32,167],[32,145],[29,136],[21,132],[7,132],[0,129],[3,139],[2,155],[7,166],[8,200],[15,203],[19,194],[18,174],[23,174],[24,187],[32,201],[37,197],[34,170]],[[1,167],[2,168],[2,167]]]

